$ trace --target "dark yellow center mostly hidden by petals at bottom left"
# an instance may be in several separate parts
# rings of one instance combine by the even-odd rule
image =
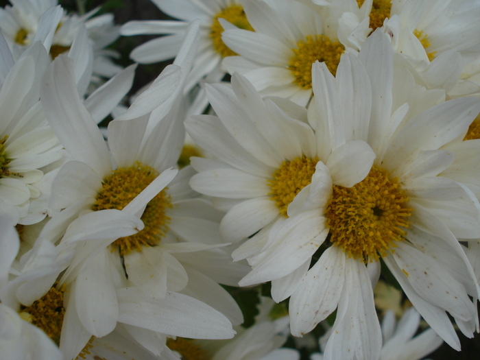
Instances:
[[[52,287],[44,296],[36,300],[29,307],[22,307],[20,316],[42,329],[57,345],[60,344],[63,317],[63,294],[65,289]]]

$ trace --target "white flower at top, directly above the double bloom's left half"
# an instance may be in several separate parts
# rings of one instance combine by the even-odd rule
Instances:
[[[289,98],[305,106],[312,95],[311,65],[325,62],[335,75],[348,45],[311,8],[298,1],[244,1],[254,32],[230,28],[224,43],[239,56],[223,64],[248,78],[262,95]],[[221,22],[222,24],[225,22]]]

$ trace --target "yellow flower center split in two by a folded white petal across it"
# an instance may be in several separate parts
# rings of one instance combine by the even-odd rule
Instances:
[[[115,208],[121,210],[139,195],[150,182],[158,176],[158,172],[148,165],[135,163],[131,167],[120,167],[102,182],[93,211]],[[160,191],[145,208],[141,220],[145,228],[130,237],[121,237],[114,244],[118,246],[121,256],[133,250],[141,250],[142,246],[154,246],[160,243],[169,230],[170,218],[165,214],[171,208],[170,196]]]

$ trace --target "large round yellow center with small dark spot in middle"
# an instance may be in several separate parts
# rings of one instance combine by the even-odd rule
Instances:
[[[331,242],[354,259],[378,261],[406,235],[400,226],[410,225],[407,202],[398,180],[377,166],[354,187],[334,186],[325,213]]]

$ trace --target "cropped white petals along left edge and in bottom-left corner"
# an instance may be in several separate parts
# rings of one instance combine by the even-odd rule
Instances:
[[[47,334],[36,326],[32,315],[5,304],[10,266],[20,247],[19,236],[10,215],[0,215],[0,357],[5,360],[61,360],[62,354]],[[33,324],[31,324],[33,323]]]

